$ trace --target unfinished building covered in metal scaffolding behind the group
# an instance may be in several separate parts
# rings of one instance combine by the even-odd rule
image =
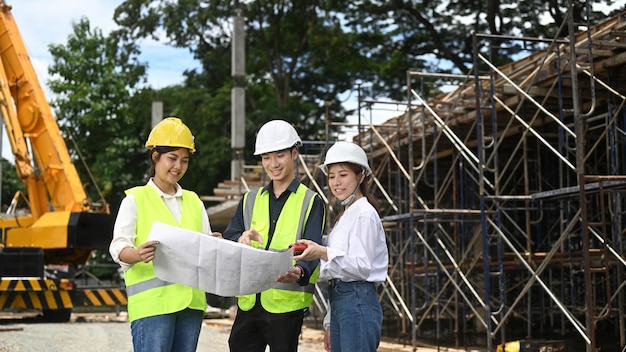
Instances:
[[[475,35],[472,72],[407,72],[404,112],[359,126],[388,235],[384,336],[624,351],[626,13],[564,25],[554,40]],[[493,40],[543,45],[497,67]]]

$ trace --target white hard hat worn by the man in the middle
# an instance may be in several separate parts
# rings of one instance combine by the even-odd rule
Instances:
[[[287,121],[272,120],[259,129],[256,135],[254,155],[277,152],[295,145],[302,146],[302,140],[296,129]]]

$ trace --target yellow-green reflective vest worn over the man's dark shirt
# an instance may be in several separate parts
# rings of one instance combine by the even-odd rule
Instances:
[[[300,185],[295,194],[289,195],[276,222],[274,236],[272,236],[272,243],[268,250],[284,250],[302,238],[304,224],[313,207],[314,197],[315,192],[304,185]],[[248,192],[244,195],[243,202],[243,219],[246,230],[255,229],[258,231],[263,237],[263,243],[266,244],[270,227],[269,192],[263,192],[262,188],[256,192]],[[252,241],[252,246],[260,247],[256,241]],[[305,286],[300,286],[295,282],[292,284],[276,283],[274,288],[261,292],[261,305],[270,313],[287,313],[308,308],[313,301],[318,273],[319,267],[315,269],[309,283]],[[256,294],[238,296],[237,298],[237,305],[244,311],[252,309],[256,302]]]

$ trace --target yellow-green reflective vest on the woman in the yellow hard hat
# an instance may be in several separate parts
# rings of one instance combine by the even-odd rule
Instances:
[[[180,224],[167,208],[161,195],[151,186],[134,187],[126,191],[137,203],[137,237],[135,246],[148,240],[150,228],[155,221],[192,231],[202,231],[202,211],[198,195],[183,190],[182,217]],[[124,273],[128,296],[130,321],[149,316],[181,311],[185,308],[205,311],[206,296],[203,291],[189,286],[163,281],[154,274],[152,262],[137,262]]]

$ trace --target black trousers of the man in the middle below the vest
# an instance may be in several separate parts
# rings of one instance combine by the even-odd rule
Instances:
[[[304,310],[269,313],[259,303],[249,311],[238,310],[230,331],[231,352],[296,352],[302,331]]]

